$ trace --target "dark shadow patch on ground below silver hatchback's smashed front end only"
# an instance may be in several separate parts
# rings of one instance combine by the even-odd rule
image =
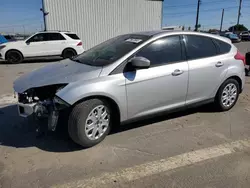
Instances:
[[[0,145],[15,148],[37,147],[51,152],[80,150],[64,128],[37,138],[36,124],[32,118],[18,116],[16,105],[0,107]]]

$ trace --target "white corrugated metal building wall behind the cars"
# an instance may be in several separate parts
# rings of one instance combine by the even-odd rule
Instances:
[[[76,32],[85,49],[119,34],[161,29],[161,0],[43,1],[47,30]]]

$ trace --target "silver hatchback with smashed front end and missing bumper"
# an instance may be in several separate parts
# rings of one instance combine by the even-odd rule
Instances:
[[[14,90],[21,116],[46,120],[52,131],[66,118],[70,137],[91,147],[111,126],[152,114],[209,102],[231,109],[244,87],[244,63],[227,38],[141,32],[23,75]]]

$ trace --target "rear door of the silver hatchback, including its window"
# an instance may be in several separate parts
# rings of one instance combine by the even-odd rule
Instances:
[[[226,76],[227,58],[219,57],[216,44],[207,36],[186,35],[189,66],[187,104],[212,99]]]

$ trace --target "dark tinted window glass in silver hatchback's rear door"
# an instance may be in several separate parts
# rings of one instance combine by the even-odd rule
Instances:
[[[212,57],[217,55],[217,49],[209,37],[186,35],[187,57],[189,60]]]

